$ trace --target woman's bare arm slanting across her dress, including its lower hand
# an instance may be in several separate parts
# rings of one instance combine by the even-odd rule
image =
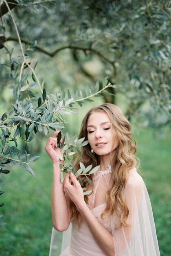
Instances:
[[[70,179],[73,185],[70,183]],[[96,220],[93,213],[88,208],[84,201],[83,190],[81,185],[77,181],[75,175],[71,173],[70,177],[67,174],[64,181],[64,192],[74,202],[77,209],[85,219],[90,228],[90,231],[94,237],[94,240],[99,245],[99,247],[108,256],[114,256],[114,241],[113,236],[110,234],[105,227],[103,227],[98,220]]]

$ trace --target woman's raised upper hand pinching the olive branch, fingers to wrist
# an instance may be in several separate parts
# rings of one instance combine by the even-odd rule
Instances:
[[[46,145],[44,149],[52,159],[52,162],[62,162],[59,159],[59,153],[61,152],[61,149],[57,146],[57,135],[59,131],[54,132],[53,137],[48,137],[48,140],[46,142]],[[60,140],[62,142],[62,139]]]

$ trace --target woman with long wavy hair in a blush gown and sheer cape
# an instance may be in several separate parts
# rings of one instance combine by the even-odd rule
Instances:
[[[89,143],[75,169],[79,162],[100,165],[91,175],[93,187],[82,177],[84,187],[92,190],[89,195],[83,195],[73,173],[61,183],[57,134],[45,146],[53,162],[53,227],[66,231],[72,223],[71,239],[60,256],[160,256],[149,195],[136,171],[131,125],[120,108],[105,103],[83,119],[79,137]],[[50,255],[57,256],[53,236]]]

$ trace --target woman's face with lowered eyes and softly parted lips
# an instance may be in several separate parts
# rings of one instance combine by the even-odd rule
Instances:
[[[117,148],[118,139],[112,134],[110,118],[105,112],[93,112],[88,118],[88,141],[99,156],[108,155]]]

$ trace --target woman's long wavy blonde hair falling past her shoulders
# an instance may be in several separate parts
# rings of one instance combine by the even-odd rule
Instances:
[[[105,103],[99,107],[92,108],[87,115],[85,115],[79,138],[85,137],[88,139],[87,123],[88,118],[93,112],[105,112],[111,121],[111,129],[113,135],[118,139],[118,147],[115,149],[113,156],[111,152],[110,164],[112,170],[112,186],[106,192],[106,208],[101,213],[101,218],[104,215],[112,216],[114,212],[119,216],[121,225],[129,227],[126,220],[129,214],[129,209],[125,202],[123,191],[128,178],[128,171],[134,168],[138,159],[136,158],[136,141],[131,136],[131,124],[123,115],[123,112],[116,105],[111,103]],[[85,166],[92,164],[93,167],[100,164],[100,158],[98,155],[91,153],[90,144],[82,147],[81,157],[75,163],[75,169],[78,170],[79,162],[82,162]],[[87,182],[84,176],[81,177],[84,187],[88,187],[90,184]],[[85,202],[88,201],[88,195],[85,195]],[[70,202],[72,220],[77,218],[78,225],[81,225],[81,216],[75,204]],[[120,225],[120,226],[121,226]]]

